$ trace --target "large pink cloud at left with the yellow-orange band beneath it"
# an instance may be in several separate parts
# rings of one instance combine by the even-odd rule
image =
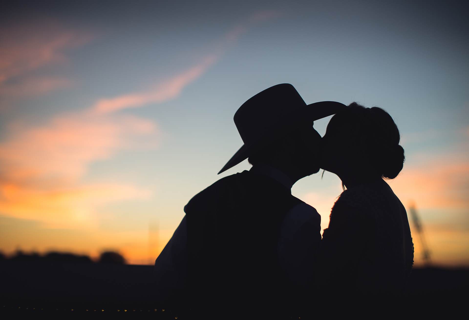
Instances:
[[[80,180],[92,162],[109,159],[139,136],[155,140],[155,134],[152,121],[89,112],[60,115],[43,126],[11,126],[0,143],[0,213],[76,228],[93,223],[99,205],[148,197],[136,186]]]

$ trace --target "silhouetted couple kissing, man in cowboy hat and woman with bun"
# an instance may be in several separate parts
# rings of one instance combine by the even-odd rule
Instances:
[[[333,115],[323,138],[313,121]],[[251,97],[234,114],[244,145],[218,180],[184,207],[156,260],[157,299],[205,311],[317,309],[315,298],[400,294],[413,264],[407,213],[384,179],[404,150],[384,110],[306,104],[290,84]],[[319,169],[342,180],[321,237],[315,208],[291,187]],[[332,203],[331,203],[332,205]],[[329,298],[329,297],[327,297]]]

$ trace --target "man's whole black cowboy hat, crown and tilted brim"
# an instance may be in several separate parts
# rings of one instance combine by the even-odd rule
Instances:
[[[333,115],[346,107],[345,104],[335,101],[306,104],[295,87],[289,83],[277,84],[259,92],[242,104],[234,114],[234,124],[244,145],[218,174],[247,159],[252,150],[285,122],[305,117],[312,122]]]

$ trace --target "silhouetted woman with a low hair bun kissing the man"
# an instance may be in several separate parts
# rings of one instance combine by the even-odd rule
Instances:
[[[316,272],[323,292],[356,298],[405,290],[414,247],[406,210],[385,181],[402,170],[399,141],[393,119],[378,107],[354,102],[329,122],[321,168],[339,176],[344,192],[323,233]]]

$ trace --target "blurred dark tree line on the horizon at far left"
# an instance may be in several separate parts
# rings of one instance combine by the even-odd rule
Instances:
[[[50,251],[44,254],[37,252],[24,253],[17,250],[13,255],[7,256],[0,252],[1,261],[23,261],[23,262],[73,262],[73,263],[113,263],[126,264],[125,258],[121,253],[115,251],[104,251],[99,255],[98,260],[92,260],[87,255],[79,255],[69,252]]]

